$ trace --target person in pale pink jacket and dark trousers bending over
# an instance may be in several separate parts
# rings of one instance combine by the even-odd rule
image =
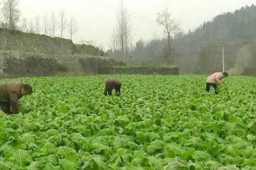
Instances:
[[[218,94],[217,88],[221,79],[227,77],[227,72],[217,72],[210,75],[206,80],[206,91],[209,92],[210,87],[212,86],[215,89],[215,94]]]

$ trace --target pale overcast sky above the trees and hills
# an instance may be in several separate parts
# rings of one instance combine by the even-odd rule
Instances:
[[[103,49],[109,48],[109,37],[116,24],[116,13],[121,0],[20,0],[21,15],[28,20],[41,19],[46,12],[64,10],[67,17],[73,15],[79,31],[73,40],[96,40]],[[131,14],[133,41],[163,37],[163,28],[155,23],[157,13],[168,7],[172,17],[179,20],[187,32],[201,23],[212,20],[218,14],[235,11],[242,6],[256,4],[256,0],[123,0]],[[42,22],[41,22],[42,23]],[[58,33],[59,34],[59,33]],[[69,37],[65,34],[65,37]]]

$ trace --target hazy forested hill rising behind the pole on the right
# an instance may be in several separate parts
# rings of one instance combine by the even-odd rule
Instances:
[[[173,41],[180,71],[208,74],[221,71],[221,43],[227,70],[241,74],[256,63],[256,6],[218,15],[195,31]]]

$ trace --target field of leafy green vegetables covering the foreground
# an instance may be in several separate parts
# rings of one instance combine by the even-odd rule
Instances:
[[[0,170],[256,170],[256,80],[203,76],[22,78],[20,113],[0,113]]]

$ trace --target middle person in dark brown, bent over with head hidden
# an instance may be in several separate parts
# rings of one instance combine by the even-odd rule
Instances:
[[[112,95],[112,90],[115,89],[116,96],[120,96],[121,82],[117,78],[110,77],[105,81],[104,95]]]

